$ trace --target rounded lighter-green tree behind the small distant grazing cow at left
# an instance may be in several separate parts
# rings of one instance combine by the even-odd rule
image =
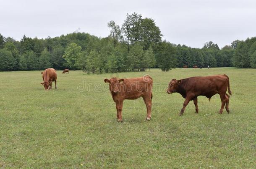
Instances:
[[[73,69],[76,69],[76,60],[81,55],[81,46],[78,46],[76,43],[71,43],[65,49],[63,58],[67,62],[67,66]]]

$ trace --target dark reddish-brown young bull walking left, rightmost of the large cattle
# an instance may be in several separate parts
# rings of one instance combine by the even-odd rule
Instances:
[[[230,91],[229,78],[227,75],[216,75],[216,76],[206,76],[206,77],[191,77],[181,80],[172,79],[169,83],[167,93],[180,93],[185,101],[183,103],[183,108],[180,111],[180,116],[184,113],[185,107],[188,105],[189,101],[194,101],[196,106],[196,113],[198,113],[197,106],[197,96],[206,96],[209,101],[212,96],[219,94],[221,99],[221,108],[219,114],[222,114],[223,108],[226,104],[227,113],[229,113],[229,95],[226,94],[228,88],[228,93],[232,95]]]

